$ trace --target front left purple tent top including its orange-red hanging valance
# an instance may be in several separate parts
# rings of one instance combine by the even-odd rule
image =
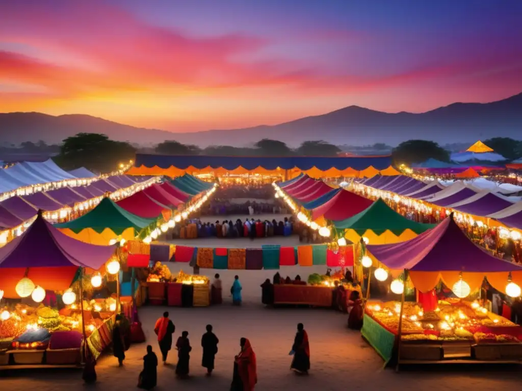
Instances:
[[[15,287],[24,276],[44,289],[67,289],[78,267],[98,270],[114,250],[114,246],[94,246],[69,238],[39,213],[22,235],[0,248],[0,286],[4,297],[18,298]]]

